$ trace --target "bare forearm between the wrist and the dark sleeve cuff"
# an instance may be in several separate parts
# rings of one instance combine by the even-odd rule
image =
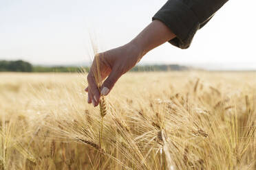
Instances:
[[[151,49],[154,49],[173,38],[175,38],[175,34],[171,32],[171,29],[161,21],[155,20],[143,29],[136,38],[131,40],[129,44],[138,48],[140,51],[140,59],[147,52],[151,51]]]

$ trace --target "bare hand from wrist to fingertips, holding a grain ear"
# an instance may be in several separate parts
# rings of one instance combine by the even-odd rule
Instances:
[[[118,79],[131,68],[133,68],[136,63],[142,57],[138,46],[130,42],[127,45],[118,47],[116,49],[111,49],[103,53],[98,53],[100,57],[100,74],[103,85],[98,89],[96,81],[94,79],[93,71],[96,64],[92,64],[89,74],[87,75],[88,87],[85,91],[88,92],[88,103],[98,106],[100,101],[100,95],[108,95],[110,90],[113,88],[114,84]],[[95,63],[95,59],[94,62]]]

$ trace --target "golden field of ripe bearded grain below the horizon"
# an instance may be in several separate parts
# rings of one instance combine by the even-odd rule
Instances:
[[[0,73],[0,169],[256,169],[256,73],[127,73],[104,119],[86,76]]]

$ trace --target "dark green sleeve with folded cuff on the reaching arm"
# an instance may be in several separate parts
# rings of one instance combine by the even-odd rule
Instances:
[[[203,27],[228,0],[169,0],[153,16],[162,21],[176,35],[169,42],[186,49],[195,33]]]

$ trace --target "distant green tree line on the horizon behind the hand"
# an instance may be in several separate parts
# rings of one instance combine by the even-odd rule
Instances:
[[[83,67],[85,71],[89,70],[89,67]],[[188,70],[189,67],[180,66],[178,64],[162,64],[162,65],[146,65],[146,66],[135,66],[131,71],[184,71]],[[7,61],[0,60],[0,71],[13,71],[13,72],[67,72],[73,73],[81,71],[81,67],[78,66],[33,66],[29,62],[23,60]]]

